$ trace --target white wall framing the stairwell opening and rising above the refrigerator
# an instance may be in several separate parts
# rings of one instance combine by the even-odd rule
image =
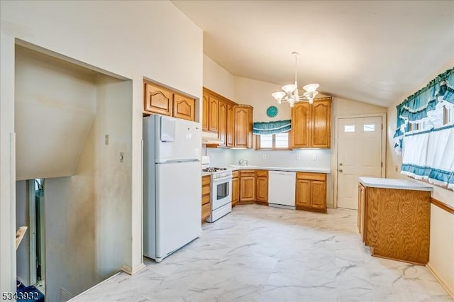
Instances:
[[[127,269],[142,259],[142,101],[143,77],[201,99],[203,35],[170,1],[1,1],[0,31],[0,291],[13,291],[16,279],[14,45],[16,38],[46,48],[68,60],[132,79],[125,114],[131,116],[131,148],[126,158],[131,187],[121,213],[128,225]],[[96,157],[96,161],[100,157]],[[80,164],[80,163],[79,163]],[[118,171],[119,172],[119,171]],[[114,172],[111,181],[115,185]],[[101,184],[102,190],[111,186]],[[110,214],[109,214],[110,215]],[[111,214],[114,215],[114,214]],[[115,230],[114,230],[115,231]],[[103,257],[103,255],[96,255]]]

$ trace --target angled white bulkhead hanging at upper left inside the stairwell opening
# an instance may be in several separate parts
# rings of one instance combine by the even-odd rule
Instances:
[[[96,74],[16,46],[16,179],[70,176],[96,114]]]

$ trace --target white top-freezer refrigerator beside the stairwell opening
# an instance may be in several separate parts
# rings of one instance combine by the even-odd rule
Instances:
[[[143,254],[160,262],[201,234],[201,126],[143,118]]]

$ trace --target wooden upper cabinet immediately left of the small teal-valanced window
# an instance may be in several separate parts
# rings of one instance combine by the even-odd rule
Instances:
[[[235,135],[233,147],[253,146],[253,107],[248,105],[234,106]]]

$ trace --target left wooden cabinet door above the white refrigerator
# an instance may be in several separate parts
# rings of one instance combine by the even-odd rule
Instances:
[[[143,111],[172,116],[173,94],[160,86],[144,83]]]

